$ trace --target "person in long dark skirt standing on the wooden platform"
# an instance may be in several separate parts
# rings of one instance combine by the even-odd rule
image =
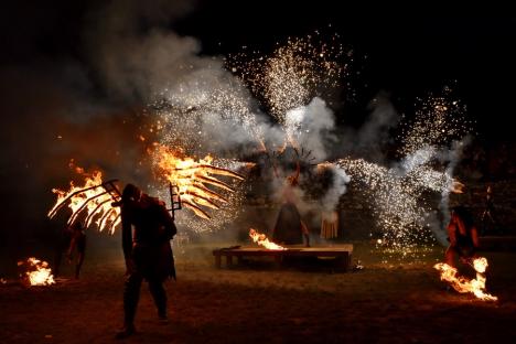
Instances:
[[[307,225],[301,219],[298,207],[295,206],[294,187],[299,184],[300,165],[292,175],[287,178],[287,183],[283,189],[281,205],[275,228],[272,229],[272,241],[282,245],[299,245],[303,244],[305,238],[307,247],[310,246],[310,236]]]

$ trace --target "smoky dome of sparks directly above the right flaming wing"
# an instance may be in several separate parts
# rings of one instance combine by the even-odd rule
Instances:
[[[237,129],[255,142],[264,137],[252,112],[250,95],[233,76],[219,75],[218,82],[181,83],[161,96],[161,100],[152,104],[151,108],[159,118],[162,144],[181,147],[193,154],[230,141],[230,137],[225,138],[227,141],[216,141],[217,138],[213,137],[215,131]]]

